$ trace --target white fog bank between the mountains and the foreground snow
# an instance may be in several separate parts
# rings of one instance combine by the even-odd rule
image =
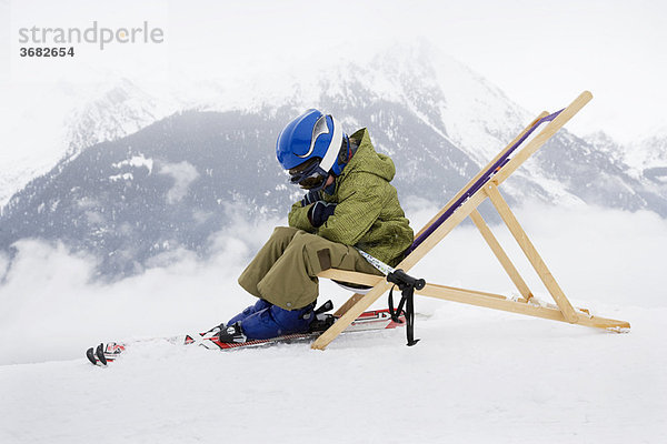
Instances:
[[[436,208],[411,202],[408,215],[418,229]],[[616,319],[667,306],[667,221],[648,212],[595,208],[530,205],[517,214],[574,303]],[[143,274],[112,284],[94,282],[97,261],[89,254],[60,243],[17,242],[11,262],[8,252],[0,252],[0,364],[78,359],[101,341],[203,331],[225,322],[253,302],[236,280],[272,228],[283,223],[237,220],[233,231],[210,239],[210,259],[176,250],[157,258]],[[531,290],[548,300],[510,234],[494,229],[517,266],[532,278]],[[457,228],[414,273],[441,284],[516,293],[471,224]],[[328,281],[321,294],[320,302],[330,297],[336,304],[349,296]],[[377,304],[384,305],[385,297]],[[440,316],[468,310],[426,297],[416,306],[421,314]],[[488,314],[474,310],[480,320]]]

